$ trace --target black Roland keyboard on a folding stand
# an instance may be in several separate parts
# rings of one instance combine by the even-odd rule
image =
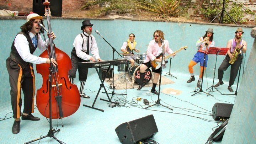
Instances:
[[[78,63],[78,65],[86,68],[99,68],[102,66],[124,64],[126,62],[127,62],[127,59],[114,59],[114,60],[103,60],[99,62],[82,62],[82,63]]]

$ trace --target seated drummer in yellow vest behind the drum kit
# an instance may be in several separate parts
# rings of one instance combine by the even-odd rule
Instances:
[[[137,54],[134,54],[134,52],[139,52],[139,50],[137,50],[136,47],[136,41],[134,40],[135,35],[133,33],[129,34],[129,39],[123,43],[123,46],[121,47],[121,51],[124,53],[127,53],[129,55],[124,55],[126,59],[129,60],[129,62],[131,63],[131,67],[134,65],[134,60],[136,60],[138,58]]]

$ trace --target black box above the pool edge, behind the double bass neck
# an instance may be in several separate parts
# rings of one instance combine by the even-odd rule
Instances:
[[[62,0],[48,0],[50,2],[49,8],[51,12],[51,16],[62,16]],[[43,3],[45,0],[33,0],[33,12],[44,16],[45,14],[45,6]]]

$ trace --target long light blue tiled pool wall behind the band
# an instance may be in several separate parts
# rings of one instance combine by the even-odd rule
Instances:
[[[71,49],[73,48],[73,42],[76,35],[81,30],[81,23],[83,20],[75,19],[52,19],[52,30],[57,35],[54,40],[55,46],[70,55]],[[0,67],[2,82],[0,86],[0,111],[2,108],[10,107],[10,85],[9,76],[7,74],[5,60],[9,56],[10,47],[12,41],[20,31],[20,26],[25,20],[0,20],[0,48],[1,57],[0,60],[2,65]],[[46,23],[46,21],[44,21]],[[237,27],[234,26],[220,26],[220,25],[208,25],[208,24],[195,24],[195,23],[177,23],[177,22],[153,22],[153,21],[131,21],[131,20],[91,20],[94,24],[93,31],[98,30],[103,37],[120,52],[122,43],[128,39],[128,34],[134,33],[137,41],[137,48],[141,52],[145,52],[147,49],[146,44],[152,39],[153,32],[157,29],[164,31],[165,39],[169,40],[171,49],[173,51],[179,49],[182,46],[188,46],[186,51],[181,51],[177,54],[171,62],[171,71],[176,71],[184,74],[189,74],[188,63],[193,58],[197,49],[195,44],[200,36],[205,34],[208,28],[214,29],[214,41],[216,47],[226,47],[226,42],[234,37],[234,32]],[[247,61],[252,42],[254,39],[250,36],[251,28],[243,27],[244,35],[243,38],[248,43],[247,55],[245,61]],[[95,32],[92,33],[97,41],[100,56],[102,59],[112,59],[111,47],[98,36]],[[41,52],[37,50],[34,54],[39,55]],[[117,58],[117,54],[114,54]],[[209,55],[208,68],[206,70],[206,76],[213,78],[215,55]],[[217,69],[224,59],[223,55],[218,56]],[[169,70],[169,64],[167,65]],[[35,67],[35,66],[34,66]],[[229,68],[230,69],[230,68]],[[225,71],[223,80],[229,80],[229,69]],[[89,70],[89,75],[95,73],[95,69]],[[194,66],[194,73],[199,75],[199,65]],[[217,77],[217,73],[215,74]],[[198,77],[197,77],[198,78]],[[188,78],[189,79],[189,78]],[[75,80],[78,82],[78,79]],[[40,88],[42,84],[42,77],[36,74],[36,89]]]

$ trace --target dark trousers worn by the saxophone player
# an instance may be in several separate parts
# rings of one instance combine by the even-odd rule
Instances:
[[[220,65],[219,69],[218,69],[218,79],[222,80],[223,75],[224,75],[224,71],[228,69],[228,67],[231,65],[231,69],[230,69],[230,78],[229,78],[229,85],[233,85],[236,79],[236,76],[238,74],[238,70],[239,70],[239,66],[241,63],[241,57],[242,55],[238,55],[237,60],[234,62],[234,64],[230,64],[229,63],[229,56],[226,55],[226,58],[223,60],[222,64]]]

